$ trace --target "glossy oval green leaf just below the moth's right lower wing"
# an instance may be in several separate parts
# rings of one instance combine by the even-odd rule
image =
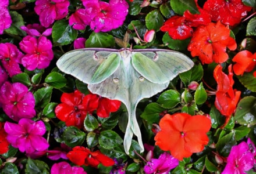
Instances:
[[[173,108],[180,103],[180,93],[172,89],[166,90],[161,93],[157,103],[159,103],[163,108]]]

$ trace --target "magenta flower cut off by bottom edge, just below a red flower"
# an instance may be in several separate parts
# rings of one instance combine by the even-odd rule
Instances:
[[[62,174],[87,174],[82,167],[70,166],[69,163],[63,161],[55,163],[51,168],[51,174],[62,173]]]

